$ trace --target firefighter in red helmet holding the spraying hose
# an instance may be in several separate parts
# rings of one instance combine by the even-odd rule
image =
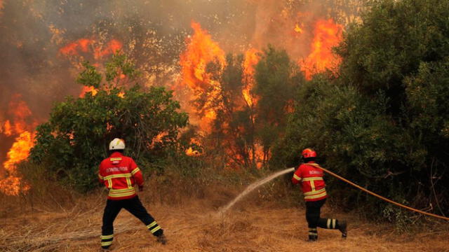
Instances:
[[[346,221],[338,221],[334,218],[320,218],[321,207],[326,202],[326,184],[323,181],[323,170],[315,162],[316,152],[310,148],[302,151],[304,163],[293,174],[292,183],[301,183],[302,193],[306,202],[306,220],[309,225],[309,241],[318,240],[317,227],[337,229],[342,232],[342,237],[347,237]]]

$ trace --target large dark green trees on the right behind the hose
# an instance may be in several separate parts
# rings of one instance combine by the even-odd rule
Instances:
[[[373,3],[336,50],[339,77],[301,85],[272,165],[297,165],[302,148],[316,148],[324,167],[351,181],[447,214],[448,16],[448,1]],[[328,181],[345,207],[407,224],[401,211]]]

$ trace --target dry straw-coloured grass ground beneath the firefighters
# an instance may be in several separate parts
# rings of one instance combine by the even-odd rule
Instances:
[[[448,229],[397,235],[387,225],[358,221],[328,207],[323,216],[350,221],[347,239],[336,230],[319,230],[318,242],[305,241],[304,209],[274,202],[248,200],[225,216],[217,215],[217,205],[225,200],[206,197],[170,206],[150,204],[143,196],[142,202],[164,228],[168,244],[156,243],[145,225],[123,210],[114,226],[113,251],[449,251]],[[1,218],[0,251],[100,251],[104,204],[104,195],[97,195],[79,200],[70,209],[35,209]]]

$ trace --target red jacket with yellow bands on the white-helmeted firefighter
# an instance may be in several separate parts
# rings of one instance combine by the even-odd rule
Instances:
[[[125,200],[135,197],[135,185],[143,186],[142,172],[133,158],[114,152],[103,160],[98,172],[100,183],[109,189],[110,200]]]

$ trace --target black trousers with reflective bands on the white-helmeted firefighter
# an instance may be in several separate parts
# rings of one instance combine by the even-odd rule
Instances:
[[[137,217],[142,223],[144,223],[148,230],[152,232],[154,236],[160,236],[163,234],[161,227],[154,221],[153,216],[148,214],[147,209],[142,206],[138,196],[127,200],[107,200],[105,212],[103,214],[102,236],[101,246],[102,248],[109,248],[114,239],[114,220],[119,214],[120,210],[124,208],[133,216]]]

